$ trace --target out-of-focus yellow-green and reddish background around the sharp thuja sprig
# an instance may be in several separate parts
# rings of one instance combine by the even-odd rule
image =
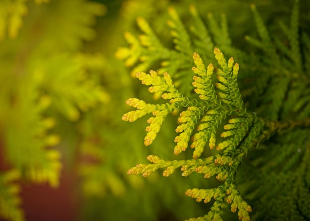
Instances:
[[[146,122],[128,124],[121,116],[130,110],[129,97],[152,97],[115,52],[127,46],[126,31],[141,34],[138,16],[173,48],[167,9],[175,7],[187,24],[190,4],[203,18],[225,13],[232,45],[255,52],[244,39],[257,35],[251,3],[266,24],[289,21],[291,3],[281,0],[1,0],[0,217],[174,221],[205,214],[206,205],[184,192],[215,180],[181,172],[170,178],[126,174],[151,153],[171,159],[173,148],[167,147],[174,147],[177,117],[167,119],[155,143],[144,147]],[[301,10],[309,16],[306,7]],[[276,25],[270,30],[278,32]],[[191,157],[182,154],[175,159]],[[46,207],[33,208],[40,204]]]

